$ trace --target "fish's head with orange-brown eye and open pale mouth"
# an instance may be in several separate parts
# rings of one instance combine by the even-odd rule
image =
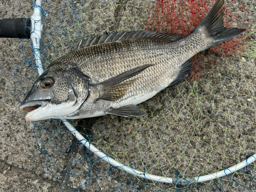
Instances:
[[[47,70],[34,82],[20,110],[27,121],[61,118],[76,112],[88,96],[90,78],[77,69]]]

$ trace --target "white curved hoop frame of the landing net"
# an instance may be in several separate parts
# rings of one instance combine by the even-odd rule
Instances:
[[[41,31],[44,30],[44,27],[42,25],[42,9],[41,9],[41,1],[36,0],[36,6],[34,8],[34,13],[31,16],[31,22],[33,23],[34,31],[31,33],[31,39],[34,47],[34,54],[35,54],[35,61],[36,65],[38,67],[38,74],[41,75],[44,69],[41,66],[41,59],[40,59],[40,45],[42,42],[42,33]],[[32,21],[34,20],[34,22]],[[239,169],[242,169],[243,167],[249,165],[253,161],[256,160],[256,154],[250,156],[246,160],[242,161],[241,163],[238,163],[234,166],[231,166],[229,168],[226,168],[224,170],[221,170],[219,172],[216,172],[214,174],[208,174],[200,177],[190,177],[190,178],[180,178],[180,180],[177,181],[177,179],[172,179],[169,177],[163,177],[163,176],[156,176],[156,175],[151,175],[151,174],[146,174],[144,172],[141,172],[139,170],[133,169],[128,165],[124,165],[122,163],[117,162],[113,158],[109,157],[108,155],[102,153],[98,148],[96,148],[93,144],[91,144],[86,138],[84,138],[76,129],[75,127],[67,120],[67,119],[61,119],[62,122],[68,127],[70,132],[84,145],[86,146],[90,152],[94,153],[97,155],[99,158],[103,159],[104,161],[110,163],[116,168],[122,169],[127,173],[130,173],[136,177],[140,178],[145,178],[148,180],[153,180],[153,181],[159,181],[159,182],[164,182],[164,183],[179,183],[181,185],[187,185],[188,183],[191,182],[206,182],[212,179],[216,178],[221,178],[225,175],[232,174],[236,172]]]

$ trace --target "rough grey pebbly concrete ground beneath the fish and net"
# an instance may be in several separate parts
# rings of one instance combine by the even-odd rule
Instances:
[[[72,2],[73,10],[76,10],[74,7],[80,1]],[[74,25],[77,18],[72,15],[76,14],[69,6],[61,12],[62,1],[44,2],[48,10],[45,44],[52,40],[58,50],[52,46],[46,49],[45,65],[49,65],[49,56],[57,58],[70,52],[72,39],[79,36],[79,32],[86,32],[89,37],[116,29],[143,29],[152,2],[85,1],[83,6],[86,8],[77,16],[78,20],[88,20],[83,27]],[[3,0],[0,2],[0,19],[27,18],[32,14],[31,5],[30,1]],[[71,5],[70,1],[67,5]],[[244,5],[251,13],[249,21],[255,22],[255,1],[244,2]],[[60,32],[64,28],[69,38]],[[255,30],[255,24],[252,24],[252,30]],[[255,43],[255,34],[249,39]],[[207,55],[207,52],[203,54]],[[120,191],[175,191],[173,184],[153,184],[122,170],[112,170],[108,163],[97,161],[93,154],[90,160],[94,165],[89,163],[88,166],[88,150],[57,120],[26,122],[26,113],[18,108],[24,98],[22,94],[28,90],[20,88],[18,81],[23,87],[31,87],[31,80],[35,78],[32,65],[27,62],[31,55],[28,40],[0,39],[0,191],[76,191],[64,186],[80,186],[88,169],[92,179],[89,179],[88,187],[80,191],[111,191],[122,185],[125,186],[120,187]],[[195,82],[188,79],[140,104],[146,114],[144,117],[107,115],[98,118],[90,130],[81,130],[81,133],[93,135],[93,138],[88,136],[92,144],[123,164],[166,177],[176,177],[172,173],[174,167],[180,177],[187,178],[203,172],[214,173],[243,161],[256,153],[255,60],[245,56],[217,58],[213,53],[204,58],[205,63],[208,60],[219,65],[211,65],[210,73],[203,70],[202,78]],[[18,66],[19,63],[22,65]],[[83,121],[73,122],[86,126]],[[255,171],[254,164],[252,170]],[[253,171],[249,174],[255,177]],[[240,185],[230,184],[232,180],[224,177],[222,191],[244,190],[241,185],[246,186],[246,190],[255,190],[255,181],[251,177],[240,172],[233,177]],[[215,182],[221,185],[220,179]],[[200,185],[201,188],[211,185],[202,191],[216,191],[212,183]],[[193,190],[196,188],[183,191]]]

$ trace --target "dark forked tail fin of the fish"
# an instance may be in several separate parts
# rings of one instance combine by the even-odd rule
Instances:
[[[192,31],[196,32],[200,27],[204,26],[210,37],[213,38],[209,47],[219,44],[219,42],[236,37],[245,31],[245,29],[224,27],[223,4],[224,0],[217,0],[202,22]]]

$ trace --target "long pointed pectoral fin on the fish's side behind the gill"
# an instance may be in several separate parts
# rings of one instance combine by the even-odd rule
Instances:
[[[97,86],[100,92],[98,99],[116,101],[122,98],[125,95],[125,93],[129,90],[129,88],[132,86],[132,83],[134,82],[134,80],[127,80],[127,81],[125,80],[141,73],[143,70],[145,70],[150,66],[153,66],[153,64],[148,64],[148,65],[134,68],[116,77],[113,77],[101,83],[95,84],[94,86]]]

